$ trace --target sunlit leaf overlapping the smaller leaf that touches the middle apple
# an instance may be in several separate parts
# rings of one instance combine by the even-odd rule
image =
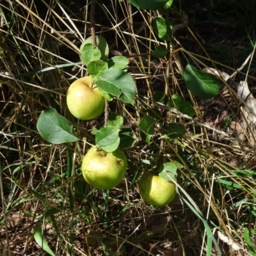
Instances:
[[[118,132],[115,126],[107,126],[97,131],[95,136],[96,144],[100,147],[106,147],[116,142]]]

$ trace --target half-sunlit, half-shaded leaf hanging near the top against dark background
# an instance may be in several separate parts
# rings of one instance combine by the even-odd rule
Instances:
[[[157,37],[165,41],[172,40],[172,25],[165,19],[156,17],[153,20],[153,29]]]

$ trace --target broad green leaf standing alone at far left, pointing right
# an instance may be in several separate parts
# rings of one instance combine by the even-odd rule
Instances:
[[[65,117],[59,115],[54,108],[47,108],[42,111],[36,127],[42,138],[52,144],[79,140],[72,134],[72,124]]]

